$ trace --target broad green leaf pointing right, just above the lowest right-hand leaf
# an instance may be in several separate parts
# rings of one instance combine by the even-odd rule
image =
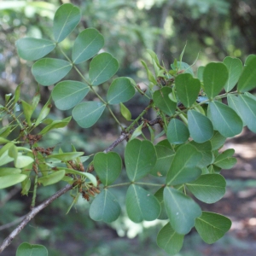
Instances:
[[[220,174],[205,174],[186,186],[197,199],[212,204],[224,196],[226,181]]]

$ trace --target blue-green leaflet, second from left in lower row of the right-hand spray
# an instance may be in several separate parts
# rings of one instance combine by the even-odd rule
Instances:
[[[213,136],[212,122],[205,115],[188,111],[189,133],[196,143],[205,143]]]

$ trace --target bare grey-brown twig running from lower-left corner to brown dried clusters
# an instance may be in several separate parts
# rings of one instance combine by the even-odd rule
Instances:
[[[23,230],[26,226],[26,224],[28,224],[30,222],[30,220],[32,218],[34,218],[38,212],[42,211],[45,207],[49,206],[49,204],[52,201],[55,201],[55,199],[59,198],[61,195],[65,194],[68,190],[73,189],[72,185],[67,185],[66,187],[64,187],[63,189],[60,189],[59,191],[57,191],[55,193],[55,195],[50,196],[47,200],[45,200],[43,203],[41,203],[40,205],[38,205],[38,207],[34,207],[32,208],[32,210],[30,212],[28,212],[26,214],[26,217],[22,220],[22,222],[15,228],[15,230],[13,230],[9,236],[7,236],[2,245],[0,246],[0,253],[3,252],[3,250],[9,246],[9,244],[15,239],[16,236],[18,236],[18,234],[20,233],[21,230]]]

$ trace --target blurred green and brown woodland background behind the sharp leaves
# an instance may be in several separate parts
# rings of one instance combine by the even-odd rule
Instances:
[[[195,70],[208,61],[223,61],[227,55],[245,61],[247,55],[256,52],[254,0],[0,0],[0,102],[5,94],[14,92],[20,82],[23,82],[21,98],[28,102],[32,100],[38,88],[31,73],[32,62],[20,60],[16,53],[15,41],[25,36],[51,39],[55,10],[62,3],[79,6],[83,16],[78,28],[61,43],[67,54],[71,53],[73,40],[79,32],[87,27],[95,27],[105,38],[103,49],[119,61],[119,72],[116,76],[129,76],[142,86],[147,84],[147,78],[140,60],[149,62],[146,49],[153,49],[166,67],[170,67],[187,44],[183,61],[192,64],[199,55]],[[49,56],[62,58],[58,50]],[[88,63],[80,64],[79,68],[86,74]],[[70,73],[68,79],[79,78],[76,73]],[[97,89],[98,92],[104,95],[108,85],[103,84]],[[40,87],[42,106],[49,98],[51,90],[51,86]],[[88,97],[92,98],[93,95],[87,96],[87,99]],[[125,103],[134,116],[140,113],[145,104],[143,97],[139,95]],[[119,109],[115,111],[119,113]],[[53,119],[63,119],[71,112],[61,112],[53,108],[50,114]],[[123,121],[125,122],[124,119]],[[44,138],[44,146],[55,146],[56,149],[61,147],[65,151],[74,144],[87,155],[107,148],[116,137],[119,137],[119,130],[108,117],[108,113],[104,113],[92,129],[84,130],[71,122],[68,130],[50,133]],[[247,137],[250,137],[249,142],[246,141]],[[230,141],[231,147],[241,143],[254,145],[256,141],[255,136],[248,131],[244,131],[240,138]],[[123,154],[122,147],[119,145],[115,150]],[[251,150],[255,152],[255,148]],[[235,167],[236,172],[224,171],[224,175],[229,179],[224,200],[217,202],[215,208],[203,206],[204,209],[215,209],[218,213],[226,214],[236,225],[233,225],[229,235],[212,246],[204,244],[192,230],[184,241],[181,253],[177,255],[254,255],[256,186],[253,178],[256,177],[256,158],[255,153],[249,158],[243,154],[236,156],[240,163]],[[245,172],[247,176],[244,175]],[[63,185],[62,183],[47,189],[40,188],[38,202],[61,189]],[[120,202],[125,201],[125,189],[114,191]],[[241,191],[253,192],[248,196],[239,197]],[[26,214],[30,202],[30,196],[20,196],[19,187],[0,190],[0,225],[11,223]],[[247,206],[253,202],[252,206]],[[154,221],[133,224],[126,218],[125,208],[122,216],[113,224],[95,223],[90,220],[88,214],[89,203],[82,199],[66,215],[71,203],[72,197],[64,195],[40,212],[3,255],[15,255],[15,248],[23,241],[43,244],[49,249],[49,255],[166,255],[155,242],[160,226],[165,223]],[[242,213],[241,208],[244,207],[248,207],[248,212]],[[14,227],[0,226],[0,239],[3,240]],[[245,229],[248,231],[241,235],[239,230]]]

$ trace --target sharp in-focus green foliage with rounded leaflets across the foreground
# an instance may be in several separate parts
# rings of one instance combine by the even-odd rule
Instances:
[[[239,134],[243,126],[256,130],[256,100],[248,92],[256,87],[256,55],[249,55],[244,67],[240,60],[231,57],[223,62],[208,63],[199,68],[195,77],[189,64],[183,62],[183,53],[169,70],[160,65],[153,51],[148,50],[154,73],[143,61],[148,74],[147,91],[141,90],[131,78],[123,77],[113,79],[107,96],[101,96],[97,87],[113,77],[119,63],[107,52],[98,53],[104,39],[94,28],[79,32],[71,57],[65,53],[61,42],[73,32],[80,18],[77,7],[63,4],[55,13],[54,39],[21,38],[16,43],[19,55],[36,61],[32,74],[38,84],[55,84],[52,91],[55,106],[60,110],[73,108],[73,119],[81,127],[95,125],[108,110],[122,134],[104,152],[96,153],[84,170],[83,164],[90,156],[82,156],[84,153],[77,152],[74,146],[73,152],[67,153],[61,149],[53,153],[54,148],[38,147],[38,141],[44,139],[45,134],[67,126],[71,117],[47,119],[51,108],[49,99],[37,119],[32,119],[40,96],[34,96],[31,103],[20,101],[19,86],[15,96],[7,95],[5,105],[1,106],[2,119],[11,119],[0,131],[4,145],[0,150],[1,189],[21,183],[22,195],[28,195],[33,183],[32,207],[35,207],[38,184],[48,186],[64,181],[72,185],[70,189],[76,193],[73,204],[82,195],[85,200],[92,201],[90,218],[110,223],[120,214],[112,188],[129,186],[125,207],[133,222],[157,218],[168,221],[157,236],[158,245],[167,253],[177,253],[183,246],[183,237],[194,226],[203,241],[217,241],[230,229],[230,219],[201,211],[192,195],[205,203],[214,203],[224,196],[226,183],[219,172],[234,166],[236,159],[232,157],[234,150],[221,152],[219,149],[227,137]],[[55,48],[61,50],[66,60],[44,57]],[[83,75],[77,64],[90,58],[89,70]],[[61,81],[71,70],[75,70],[83,82]],[[95,95],[94,101],[84,100],[89,91]],[[123,103],[136,91],[147,98],[148,107],[136,119],[131,119]],[[228,99],[228,105],[222,102],[223,98]],[[24,116],[17,115],[20,104]],[[122,120],[113,112],[114,105],[118,104],[124,118],[131,120],[128,127],[123,127]],[[156,113],[156,119],[145,119],[149,109]],[[162,128],[159,134],[151,127],[156,124]],[[9,140],[17,127],[19,135]],[[37,129],[39,131],[33,134]],[[147,129],[150,140],[144,135]],[[160,138],[159,143],[156,143],[157,138]],[[114,183],[121,172],[122,160],[119,154],[109,151],[125,139],[128,140],[124,154],[127,182]],[[9,163],[14,167],[6,166]],[[90,173],[94,170],[97,176]],[[156,177],[157,182],[148,183],[150,175]],[[143,178],[147,178],[147,182]],[[148,187],[158,187],[158,190],[152,193]]]

